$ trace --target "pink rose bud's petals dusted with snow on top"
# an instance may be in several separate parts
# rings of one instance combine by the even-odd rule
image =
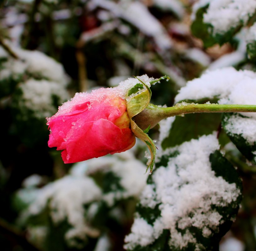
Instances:
[[[64,163],[126,151],[135,144],[126,101],[114,88],[76,93],[47,119],[49,147],[63,150]]]

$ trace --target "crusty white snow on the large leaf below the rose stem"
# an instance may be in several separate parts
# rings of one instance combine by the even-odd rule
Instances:
[[[240,194],[235,183],[216,177],[211,170],[209,155],[218,149],[214,133],[165,150],[163,154],[178,151],[179,155],[169,158],[167,167],[154,170],[153,184],[147,185],[141,194],[141,205],[154,208],[160,203],[161,215],[152,225],[137,215],[131,233],[125,238],[126,249],[149,245],[168,229],[170,246],[182,249],[194,243],[196,250],[201,250],[187,228],[202,229],[204,237],[209,237],[211,229],[218,231],[222,223],[222,216],[212,206],[225,207]],[[185,233],[178,232],[177,226]]]

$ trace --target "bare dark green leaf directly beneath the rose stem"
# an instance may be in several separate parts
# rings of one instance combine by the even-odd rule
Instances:
[[[162,148],[173,147],[184,141],[197,139],[199,136],[217,131],[221,123],[220,113],[193,113],[183,117],[176,116],[169,135],[162,141]]]

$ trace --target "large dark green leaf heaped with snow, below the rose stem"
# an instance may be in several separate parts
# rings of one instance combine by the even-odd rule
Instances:
[[[216,134],[166,149],[144,188],[125,248],[217,250],[241,202],[241,180]]]

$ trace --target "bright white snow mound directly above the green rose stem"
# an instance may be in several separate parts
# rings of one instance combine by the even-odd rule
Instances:
[[[237,71],[233,67],[205,71],[196,79],[187,82],[179,90],[175,102],[185,99],[218,97],[220,104],[256,105],[253,93],[256,92],[256,73],[249,70]],[[243,114],[243,113],[242,113]],[[256,118],[256,113],[243,115]]]

